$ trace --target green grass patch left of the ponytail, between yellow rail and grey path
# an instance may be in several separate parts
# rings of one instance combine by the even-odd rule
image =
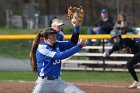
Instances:
[[[31,41],[0,41],[0,56],[28,59]]]

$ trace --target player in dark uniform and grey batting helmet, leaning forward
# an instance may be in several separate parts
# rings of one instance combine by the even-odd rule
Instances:
[[[140,62],[139,42],[136,42],[135,40],[132,40],[130,38],[122,39],[121,32],[117,29],[111,31],[111,38],[114,41],[113,47],[111,50],[104,52],[103,57],[110,56],[114,51],[129,48],[130,52],[134,54],[134,56],[130,58],[127,62],[127,69],[134,79],[133,84],[130,85],[129,88],[140,88],[140,82],[134,70],[134,65]]]

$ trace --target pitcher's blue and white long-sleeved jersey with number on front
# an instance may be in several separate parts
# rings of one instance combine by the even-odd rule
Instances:
[[[79,28],[75,28],[74,32],[79,33]],[[58,41],[54,46],[45,42],[38,45],[36,51],[38,76],[60,76],[61,60],[72,56],[82,48],[80,44],[76,44],[72,40],[74,39]]]

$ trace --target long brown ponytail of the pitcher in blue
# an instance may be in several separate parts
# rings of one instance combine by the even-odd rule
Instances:
[[[52,28],[45,28],[44,30],[40,31],[36,35],[35,39],[33,40],[30,54],[29,54],[33,72],[37,72],[36,50],[37,50],[37,47],[38,47],[40,41],[43,38],[47,38],[49,34],[53,34],[53,33],[56,33],[56,31],[52,30]]]

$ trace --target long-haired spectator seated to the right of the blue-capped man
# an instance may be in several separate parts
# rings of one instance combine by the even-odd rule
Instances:
[[[127,21],[125,13],[121,12],[114,26],[115,29],[121,31],[121,34],[133,33],[132,26]]]

